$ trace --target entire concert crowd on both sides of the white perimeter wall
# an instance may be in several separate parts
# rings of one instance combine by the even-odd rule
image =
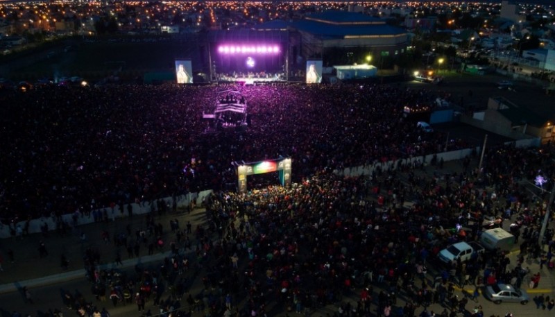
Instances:
[[[139,248],[170,248],[154,269],[137,267],[133,277],[101,271],[94,250],[87,251],[96,300],[109,298],[114,307],[135,301],[144,314],[154,305],[162,316],[178,309],[255,317],[282,307],[309,314],[335,304],[334,316],[413,317],[423,309],[420,316],[429,317],[436,302],[445,307],[436,312],[442,316],[481,317],[480,307],[467,307],[475,295],[459,299],[455,284],[537,284],[540,273],[529,272],[524,257],[552,261],[553,230],[543,237],[548,253],[534,248],[546,194],[530,196],[520,185],[540,172],[553,175],[552,146],[491,147],[481,171],[468,158],[461,173],[444,173],[432,160],[431,178],[404,164],[343,178],[332,171],[443,149],[443,137],[416,130],[402,112],[434,96],[364,85],[241,87],[253,117],[248,132],[203,135],[200,114],[225,88],[56,88],[12,96],[19,102],[1,110],[3,216],[87,212],[214,189],[206,225],[183,231],[172,221],[162,240],[162,225],[147,216],[148,231],[114,232],[113,240],[103,233],[128,257]],[[235,178],[230,162],[278,155],[296,164],[291,188],[225,190]],[[434,265],[441,248],[477,239],[487,217],[514,221],[511,231],[523,240],[518,263],[498,251]],[[190,277],[202,277],[200,293],[189,291]],[[77,306],[67,295],[67,308],[87,311],[86,301]]]

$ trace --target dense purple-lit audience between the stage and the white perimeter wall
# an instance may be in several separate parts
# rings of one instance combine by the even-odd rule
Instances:
[[[244,95],[252,124],[203,134],[202,113],[225,89]],[[385,86],[51,87],[0,98],[4,221],[222,189],[234,160],[290,155],[298,180],[444,144],[403,113],[435,96]]]

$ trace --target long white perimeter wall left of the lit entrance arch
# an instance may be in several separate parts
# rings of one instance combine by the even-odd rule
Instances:
[[[211,193],[212,193],[212,190],[205,190],[205,191],[199,191],[198,193],[189,193],[186,195],[177,196],[176,205],[178,206],[178,208],[186,207],[189,205],[191,200],[194,200],[196,205],[201,205],[205,200],[205,198]],[[162,198],[162,200],[164,200],[164,202],[169,206],[169,209],[171,210],[171,207],[173,206],[173,198],[166,197],[166,198]],[[103,209],[106,209],[106,211],[108,212],[108,219],[110,219],[110,221],[115,221],[115,219],[126,218],[129,216],[127,211],[127,205],[128,204],[125,204],[123,206],[123,213],[120,212],[119,205],[117,205],[114,208],[105,207],[105,208],[100,208],[99,210],[103,211]],[[152,205],[149,202],[145,202],[140,204],[133,203],[131,204],[131,206],[133,207],[133,214],[135,215],[147,214],[148,212],[157,211],[156,201],[153,201]],[[89,216],[80,214],[77,218],[77,225],[85,225],[87,223],[93,223],[94,218],[92,215],[93,215],[92,212],[91,214],[89,214]],[[73,214],[64,214],[62,215],[62,219],[63,221],[71,225],[72,223],[74,223],[72,216]],[[40,219],[32,219],[30,221],[29,233],[40,232],[40,228],[42,225],[44,225],[44,223],[48,224],[49,230],[56,230],[56,219],[53,219],[52,217],[42,217]],[[0,224],[0,238],[11,237],[10,226],[12,226],[13,228],[16,228],[17,225],[21,225],[21,227],[24,228],[25,221],[19,221],[19,223],[13,223],[10,225]]]

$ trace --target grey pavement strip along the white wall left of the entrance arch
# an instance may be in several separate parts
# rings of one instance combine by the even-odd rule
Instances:
[[[53,284],[77,278],[85,278],[83,257],[87,248],[98,250],[100,263],[103,268],[112,268],[116,255],[119,252],[123,266],[127,268],[138,263],[156,262],[169,254],[169,242],[175,239],[175,234],[170,230],[169,221],[178,219],[181,229],[185,229],[187,221],[191,222],[192,228],[205,223],[205,209],[195,209],[191,214],[178,212],[167,213],[161,216],[155,215],[155,223],[161,223],[164,228],[162,239],[166,241],[165,251],[148,255],[148,250],[142,245],[139,257],[128,257],[126,248],[117,247],[113,241],[106,243],[101,237],[103,230],[109,232],[110,237],[114,234],[125,233],[131,239],[135,239],[135,230],[146,228],[146,215],[135,215],[130,218],[116,219],[108,223],[89,223],[80,225],[78,232],[68,232],[64,236],[56,232],[49,232],[47,237],[42,234],[29,234],[22,239],[1,239],[0,253],[3,256],[3,272],[0,272],[0,293],[16,291],[22,286],[40,286]],[[130,232],[130,234],[129,234]],[[85,233],[85,241],[80,236]],[[131,240],[131,239],[128,239]],[[40,257],[38,250],[40,241],[44,241],[48,255]],[[193,245],[196,243],[191,239]],[[8,250],[13,250],[14,262],[8,257]],[[67,270],[62,269],[61,256],[65,255],[69,261]]]

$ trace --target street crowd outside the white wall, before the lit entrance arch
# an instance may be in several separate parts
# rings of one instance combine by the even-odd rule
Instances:
[[[503,252],[493,252],[444,267],[435,264],[436,253],[477,239],[486,216],[511,219],[518,225],[513,233],[522,232],[521,246],[536,245],[545,205],[541,197],[529,198],[518,181],[538,169],[549,171],[552,153],[549,147],[493,148],[484,155],[482,173],[445,173],[436,166],[431,178],[422,178],[414,166],[400,165],[377,169],[370,178],[321,171],[290,189],[217,191],[206,202],[209,221],[196,228],[171,219],[164,232],[147,215],[145,230],[133,234],[126,228],[108,239],[127,248],[131,258],[164,237],[156,252],[171,253],[159,264],[137,265],[132,274],[101,270],[99,256],[87,250],[85,268],[96,301],[67,292],[63,301],[78,316],[94,316],[96,307],[111,302],[137,305],[144,316],[311,314],[331,304],[336,317],[481,317],[483,309],[471,302],[478,301],[479,286],[538,286],[541,273],[530,272],[524,257],[552,261],[552,230],[545,236],[549,252],[523,248],[513,265]],[[466,234],[457,232],[457,224]],[[114,264],[121,264],[121,255]],[[203,281],[200,291],[191,289],[196,278]],[[475,292],[459,298],[454,286],[467,285]],[[553,308],[549,298],[535,302]],[[429,310],[434,303],[443,311]]]

